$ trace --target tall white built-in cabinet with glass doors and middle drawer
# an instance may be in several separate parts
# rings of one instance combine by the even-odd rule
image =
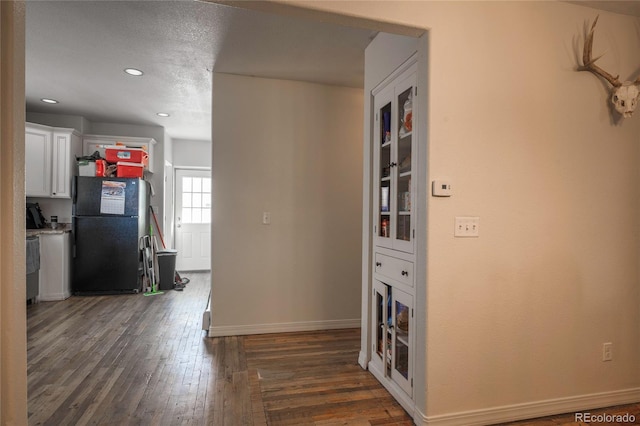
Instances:
[[[403,406],[413,404],[417,90],[415,59],[372,91],[372,288],[369,370]],[[407,401],[409,401],[407,403]]]

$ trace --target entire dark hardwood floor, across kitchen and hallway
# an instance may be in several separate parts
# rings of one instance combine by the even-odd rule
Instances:
[[[358,329],[208,338],[209,274],[183,276],[182,292],[28,306],[29,424],[413,424],[357,365]]]

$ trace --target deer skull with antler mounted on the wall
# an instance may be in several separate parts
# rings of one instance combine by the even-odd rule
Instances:
[[[640,95],[640,90],[638,90],[640,77],[635,81],[620,82],[619,75],[614,77],[596,65],[596,61],[602,57],[602,55],[595,59],[591,57],[591,50],[593,49],[593,32],[596,27],[596,23],[598,23],[598,18],[599,16],[596,16],[596,19],[593,21],[593,25],[591,25],[591,30],[584,41],[584,50],[582,52],[583,65],[578,67],[578,71],[591,71],[595,75],[599,75],[611,83],[611,102],[613,103],[616,111],[622,114],[623,117],[628,118],[631,117],[638,103],[638,96]]]

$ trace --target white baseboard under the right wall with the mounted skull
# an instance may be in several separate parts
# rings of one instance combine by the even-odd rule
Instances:
[[[595,410],[614,405],[640,402],[640,388],[622,389],[610,392],[592,393],[543,401],[525,402],[522,404],[503,405],[480,410],[462,411],[459,413],[425,416],[415,410],[414,422],[417,425],[437,426],[472,426],[487,425],[516,420],[533,419],[555,414],[575,413]]]

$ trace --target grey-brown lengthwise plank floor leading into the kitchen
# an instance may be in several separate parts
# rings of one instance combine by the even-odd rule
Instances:
[[[29,424],[224,424],[224,344],[206,338],[207,274],[182,292],[27,309]]]

